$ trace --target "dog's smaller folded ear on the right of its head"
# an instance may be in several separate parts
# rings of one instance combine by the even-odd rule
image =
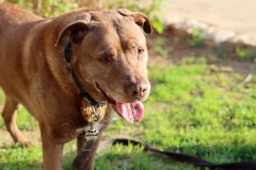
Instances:
[[[147,34],[152,34],[153,29],[150,23],[150,19],[148,19],[148,17],[144,13],[132,12],[128,9],[119,9],[118,13],[123,16],[132,16],[134,22],[141,28],[143,28],[144,32],[146,32]]]

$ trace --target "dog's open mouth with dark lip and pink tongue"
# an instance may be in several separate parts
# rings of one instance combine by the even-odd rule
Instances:
[[[111,95],[100,87],[96,83],[96,86],[104,97],[106,97],[106,101],[113,105],[113,108],[121,116],[124,120],[126,120],[129,124],[133,124],[134,122],[140,122],[143,118],[144,107],[141,101],[135,101],[134,103],[123,103],[115,100]]]

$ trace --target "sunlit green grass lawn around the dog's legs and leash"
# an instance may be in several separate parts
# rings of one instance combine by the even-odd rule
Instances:
[[[212,66],[211,66],[212,67]],[[240,85],[237,73],[211,69],[204,57],[187,57],[164,69],[149,68],[152,91],[144,118],[129,125],[115,116],[104,138],[128,137],[157,148],[196,155],[215,163],[256,161],[256,79]],[[254,75],[255,76],[255,75]],[[0,103],[3,94],[0,92]],[[36,130],[26,110],[18,115],[23,130]],[[4,130],[0,120],[0,130]],[[75,141],[64,151],[64,169],[71,169]],[[0,147],[0,169],[41,169],[42,149]],[[110,146],[98,153],[96,170],[199,169],[132,146]]]

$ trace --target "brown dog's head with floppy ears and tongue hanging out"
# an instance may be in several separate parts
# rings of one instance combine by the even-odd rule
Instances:
[[[96,101],[108,101],[127,122],[141,121],[150,93],[148,51],[143,31],[152,33],[146,15],[91,11],[79,15],[59,34],[57,46],[72,44],[71,67]]]

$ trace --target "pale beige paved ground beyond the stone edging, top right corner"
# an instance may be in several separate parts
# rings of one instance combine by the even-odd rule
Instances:
[[[193,19],[238,34],[256,34],[256,2],[253,0],[168,0],[162,9],[166,19],[171,15]]]

